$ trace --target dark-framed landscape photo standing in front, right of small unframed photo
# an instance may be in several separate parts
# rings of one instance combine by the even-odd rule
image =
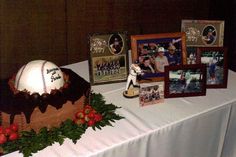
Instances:
[[[165,67],[165,97],[206,95],[206,65]]]

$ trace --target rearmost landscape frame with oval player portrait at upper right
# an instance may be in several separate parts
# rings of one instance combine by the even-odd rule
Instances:
[[[182,20],[181,31],[186,33],[186,46],[223,46],[224,21]]]

